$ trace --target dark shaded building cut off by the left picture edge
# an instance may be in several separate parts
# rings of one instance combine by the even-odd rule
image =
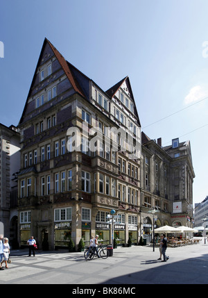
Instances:
[[[17,246],[17,172],[20,167],[17,127],[0,124],[0,222],[4,236]]]

